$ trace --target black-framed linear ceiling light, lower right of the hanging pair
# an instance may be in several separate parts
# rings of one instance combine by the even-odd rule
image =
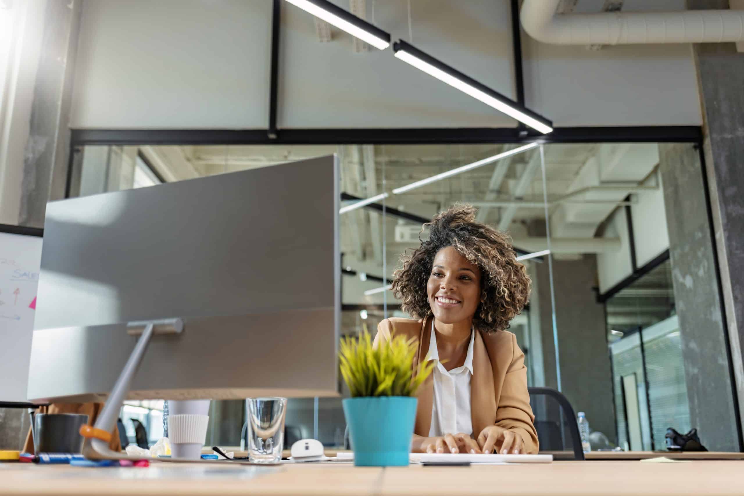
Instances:
[[[458,88],[471,97],[481,100],[486,105],[492,106],[499,112],[504,112],[504,114],[519,120],[519,122],[542,132],[542,134],[553,131],[551,120],[529,109],[525,109],[524,106],[519,105],[514,100],[504,97],[498,91],[478,83],[472,77],[467,77],[457,69],[434,59],[431,55],[420,51],[402,39],[393,44],[393,51],[395,52],[395,57],[403,60],[403,62],[408,62],[415,68],[426,72],[426,74],[436,77],[437,80]]]

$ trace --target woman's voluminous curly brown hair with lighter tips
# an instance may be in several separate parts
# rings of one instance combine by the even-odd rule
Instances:
[[[475,222],[475,207],[455,204],[423,225],[429,227],[429,239],[401,257],[402,267],[394,272],[393,294],[402,300],[402,308],[414,318],[432,315],[426,283],[437,252],[454,247],[473,265],[481,268],[481,303],[475,309],[473,326],[481,332],[509,328],[509,322],[525,308],[532,280],[525,265],[517,262],[507,234],[489,225]]]

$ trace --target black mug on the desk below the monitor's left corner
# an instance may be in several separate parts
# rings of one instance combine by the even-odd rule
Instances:
[[[81,413],[36,413],[33,418],[33,449],[39,453],[80,453],[80,428],[88,423]]]

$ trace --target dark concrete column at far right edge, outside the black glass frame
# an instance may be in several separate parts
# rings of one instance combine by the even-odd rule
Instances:
[[[687,0],[690,10],[727,9],[727,0]],[[744,408],[744,54],[734,43],[693,45],[705,167],[739,410]],[[741,419],[740,419],[741,422]],[[741,431],[741,425],[740,425]],[[741,434],[738,436],[738,448]]]

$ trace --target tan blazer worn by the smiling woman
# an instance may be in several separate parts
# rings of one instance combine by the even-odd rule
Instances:
[[[416,338],[418,350],[414,356],[415,369],[419,360],[426,358],[426,352],[429,351],[431,319],[432,317],[419,321],[408,318],[385,319],[377,326],[374,344],[377,346],[381,341],[390,341],[393,334]],[[533,425],[535,416],[530,408],[530,395],[527,393],[525,354],[519,350],[516,337],[507,331],[498,331],[494,334],[475,332],[472,370],[470,379],[472,437],[477,439],[478,434],[481,434],[488,425],[498,425],[522,436],[526,453],[537,453],[539,445],[537,431]],[[429,437],[434,399],[432,376],[421,385],[417,396],[414,433]]]

